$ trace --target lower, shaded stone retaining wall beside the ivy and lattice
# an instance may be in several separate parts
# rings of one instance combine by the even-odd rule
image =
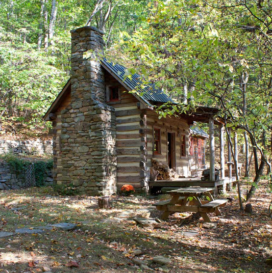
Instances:
[[[25,173],[14,173],[8,162],[0,161],[0,190],[1,189],[20,189],[25,188]],[[48,171],[44,179],[45,185],[53,184],[52,171]]]

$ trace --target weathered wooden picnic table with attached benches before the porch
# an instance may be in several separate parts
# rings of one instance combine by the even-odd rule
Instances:
[[[219,207],[226,206],[228,199],[214,200],[211,192],[212,188],[204,187],[185,187],[170,190],[167,194],[172,198],[166,201],[155,203],[154,206],[162,214],[162,220],[167,220],[169,215],[175,212],[199,212],[204,222],[211,222],[208,213],[214,212],[217,216],[221,216]],[[201,196],[205,196],[206,200],[202,201]]]

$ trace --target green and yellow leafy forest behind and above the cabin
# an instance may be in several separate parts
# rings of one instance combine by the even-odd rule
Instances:
[[[2,137],[47,134],[42,116],[69,78],[69,31],[86,24],[105,32],[108,58],[180,102],[162,116],[218,107],[244,143],[243,176],[253,162],[253,191],[271,180],[269,1],[0,1]]]

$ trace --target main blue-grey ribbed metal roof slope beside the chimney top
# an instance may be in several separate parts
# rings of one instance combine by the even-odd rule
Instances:
[[[123,83],[125,83],[131,90],[136,91],[137,95],[146,101],[154,102],[172,102],[175,103],[170,97],[168,97],[162,90],[158,89],[155,84],[144,84],[141,80],[141,76],[137,73],[129,74],[128,69],[119,64],[113,64],[108,62],[105,58],[101,61],[112,73],[114,73]],[[127,73],[126,73],[127,72]]]

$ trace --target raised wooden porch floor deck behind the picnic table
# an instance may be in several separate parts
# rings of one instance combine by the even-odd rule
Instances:
[[[231,182],[235,182],[235,177],[225,177],[218,181],[202,181],[201,177],[192,177],[192,178],[177,178],[175,180],[158,180],[150,181],[150,187],[217,187],[220,185],[226,185]]]

